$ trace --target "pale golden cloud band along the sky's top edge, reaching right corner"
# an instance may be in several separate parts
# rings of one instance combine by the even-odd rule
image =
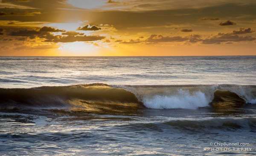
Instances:
[[[225,4],[250,5],[253,0],[68,0],[67,3],[76,8],[102,9],[105,11],[153,11],[153,10],[178,10],[178,9],[201,9],[208,7],[223,6]],[[105,2],[105,3],[104,3]]]

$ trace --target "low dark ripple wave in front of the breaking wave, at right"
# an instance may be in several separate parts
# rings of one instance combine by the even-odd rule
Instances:
[[[253,117],[246,118],[209,118],[209,119],[183,119],[183,120],[169,120],[166,122],[154,122],[154,123],[140,123],[131,124],[129,128],[131,130],[136,130],[138,127],[157,129],[166,127],[168,129],[175,128],[180,130],[189,130],[200,132],[206,131],[209,133],[210,130],[221,129],[221,130],[239,130],[239,129],[249,129],[255,131],[256,129],[256,119]],[[125,125],[124,125],[125,126]]]

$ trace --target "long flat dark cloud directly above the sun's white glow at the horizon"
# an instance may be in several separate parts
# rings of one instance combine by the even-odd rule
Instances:
[[[45,40],[45,42],[62,42],[62,43],[67,43],[67,42],[76,42],[76,41],[82,41],[82,42],[87,42],[87,41],[96,41],[96,40],[102,40],[105,39],[103,36],[62,36],[53,40]]]

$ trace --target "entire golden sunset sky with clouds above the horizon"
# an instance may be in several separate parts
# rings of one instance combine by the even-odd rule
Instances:
[[[256,55],[255,0],[0,0],[0,56]]]

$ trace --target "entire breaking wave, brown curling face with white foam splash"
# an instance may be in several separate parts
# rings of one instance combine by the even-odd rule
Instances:
[[[254,85],[72,85],[0,88],[0,109],[67,109],[89,113],[197,109],[256,104]]]

